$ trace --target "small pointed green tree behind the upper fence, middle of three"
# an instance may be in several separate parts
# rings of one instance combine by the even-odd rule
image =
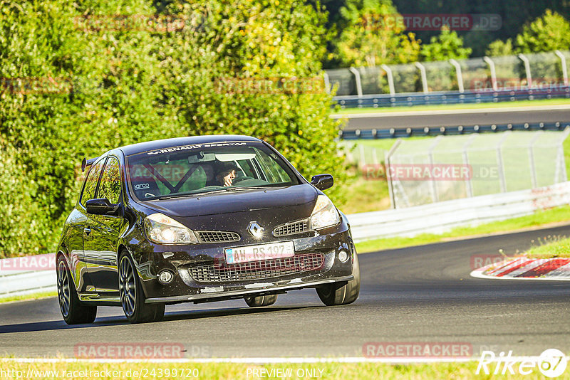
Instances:
[[[463,39],[457,36],[457,32],[443,26],[439,36],[432,37],[430,43],[422,45],[421,58],[426,61],[465,59],[469,58],[471,51],[471,48],[463,47]]]

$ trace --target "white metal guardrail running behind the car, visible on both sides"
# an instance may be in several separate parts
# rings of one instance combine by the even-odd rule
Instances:
[[[393,236],[414,236],[418,233],[442,233],[455,226],[475,225],[530,215],[538,210],[570,204],[570,182],[532,190],[475,196],[454,201],[348,215],[355,241]],[[38,260],[42,256],[28,256]],[[55,255],[49,254],[54,257]],[[56,272],[48,270],[6,270],[0,260],[0,298],[31,292],[56,290]],[[53,264],[53,267],[55,265]]]

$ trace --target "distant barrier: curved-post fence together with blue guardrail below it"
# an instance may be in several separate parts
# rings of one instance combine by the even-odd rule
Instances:
[[[394,107],[569,97],[570,51],[324,70],[341,107]],[[381,95],[380,95],[381,94]]]

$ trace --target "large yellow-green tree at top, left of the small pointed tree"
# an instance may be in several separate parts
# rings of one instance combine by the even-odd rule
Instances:
[[[403,19],[391,0],[348,0],[340,13],[336,52],[343,64],[372,67],[418,60],[420,41],[404,33]]]

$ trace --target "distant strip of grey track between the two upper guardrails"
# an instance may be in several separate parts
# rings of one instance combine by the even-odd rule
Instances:
[[[351,114],[344,130],[389,130],[420,127],[457,127],[458,125],[507,125],[570,122],[570,108],[552,106],[538,110],[491,109],[416,112],[379,112]]]

